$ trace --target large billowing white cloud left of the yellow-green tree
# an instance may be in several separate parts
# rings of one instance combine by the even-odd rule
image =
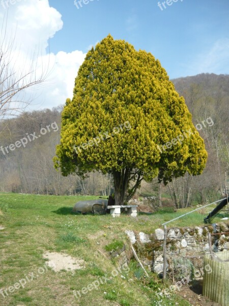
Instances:
[[[64,104],[67,97],[72,98],[75,77],[85,54],[79,50],[47,54],[48,40],[63,27],[61,14],[49,6],[48,0],[9,3],[9,10],[4,13],[5,17],[0,14],[0,21],[4,23],[8,13],[6,37],[10,40],[16,33],[11,54],[14,69],[25,72],[33,63],[37,75],[42,71],[49,74],[42,87],[26,92],[27,96],[33,94],[37,97],[33,108],[52,108]]]

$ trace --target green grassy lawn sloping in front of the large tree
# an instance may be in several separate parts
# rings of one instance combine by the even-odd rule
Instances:
[[[81,290],[99,277],[111,276],[117,261],[109,258],[107,245],[114,240],[123,241],[128,250],[125,230],[152,233],[161,223],[190,211],[174,213],[162,209],[152,215],[139,214],[136,218],[121,215],[115,219],[110,215],[71,213],[76,201],[93,198],[97,197],[0,194],[0,226],[4,227],[0,230],[0,289],[9,289],[26,276],[30,279],[24,288],[20,286],[14,291],[11,288],[12,293],[8,290],[5,297],[0,294],[0,305],[188,305],[177,295],[159,302],[155,291],[162,284],[153,273],[151,281],[144,282],[144,277],[136,273],[139,268],[134,261],[128,272],[122,271],[97,290],[78,299],[73,295],[73,290]],[[203,225],[207,213],[195,212],[169,226]],[[43,274],[38,273],[46,263],[43,254],[47,251],[84,260],[85,268],[72,273],[54,272],[46,267]],[[31,278],[31,273],[36,277]]]

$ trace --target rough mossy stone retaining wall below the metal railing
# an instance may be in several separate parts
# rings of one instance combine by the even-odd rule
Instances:
[[[208,233],[228,232],[228,235],[212,236],[213,252],[229,250],[229,223],[218,223],[203,227],[172,227],[167,229],[166,253],[167,270],[171,269],[171,259],[189,259],[196,275],[203,275],[203,259],[205,254],[209,254]],[[131,243],[134,245],[143,264],[152,271],[160,273],[163,271],[163,240],[164,231],[157,228],[151,235],[126,231]]]

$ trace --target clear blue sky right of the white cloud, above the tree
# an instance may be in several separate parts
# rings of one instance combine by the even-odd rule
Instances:
[[[229,45],[228,0],[177,0],[170,6],[165,3],[166,9],[161,5],[163,11],[157,0],[94,0],[81,3],[82,7],[78,4],[79,9],[73,0],[50,0],[49,4],[64,22],[50,40],[54,52],[87,52],[110,33],[151,52],[170,78],[229,71],[228,55],[225,63],[220,58],[223,44],[227,52]]]

